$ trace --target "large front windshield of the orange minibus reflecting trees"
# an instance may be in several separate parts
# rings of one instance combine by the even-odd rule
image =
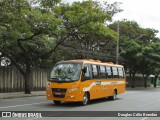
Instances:
[[[81,63],[59,63],[51,71],[51,82],[74,82],[79,80],[82,69]]]

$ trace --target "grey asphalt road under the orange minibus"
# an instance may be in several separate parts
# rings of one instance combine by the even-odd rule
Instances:
[[[45,96],[24,97],[14,99],[0,99],[0,111],[160,111],[160,88],[139,88],[129,89],[124,94],[118,96],[115,101],[99,99],[91,101],[87,106],[81,106],[78,103],[62,103],[57,106],[52,101],[46,100]],[[61,114],[59,115],[61,116]],[[2,118],[0,118],[1,120]],[[13,119],[13,118],[10,118]],[[43,120],[44,118],[23,118],[24,120]],[[45,118],[53,120],[53,118]],[[56,120],[75,120],[74,117],[57,117]],[[81,120],[82,118],[76,118]],[[84,119],[84,118],[83,118]],[[96,120],[97,118],[85,117],[87,120]],[[159,120],[155,117],[100,117],[98,119],[124,119],[124,120]],[[16,118],[15,120],[18,120]]]

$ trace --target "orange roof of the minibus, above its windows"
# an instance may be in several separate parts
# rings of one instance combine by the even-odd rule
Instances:
[[[66,61],[61,61],[61,62],[82,62],[82,63],[91,63],[91,64],[98,64],[98,65],[123,67],[122,65],[113,64],[112,62],[101,62],[100,60],[93,60],[93,59],[76,59],[76,60],[66,60]]]

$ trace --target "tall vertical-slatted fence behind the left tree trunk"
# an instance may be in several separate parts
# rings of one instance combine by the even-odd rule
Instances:
[[[49,70],[33,69],[32,91],[45,90]],[[24,91],[24,79],[15,67],[0,67],[0,93]]]

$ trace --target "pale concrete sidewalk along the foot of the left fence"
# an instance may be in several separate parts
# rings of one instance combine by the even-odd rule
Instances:
[[[24,94],[24,92],[10,92],[10,93],[0,93],[0,99],[45,96],[45,95],[46,95],[46,91],[31,91],[31,94]]]

